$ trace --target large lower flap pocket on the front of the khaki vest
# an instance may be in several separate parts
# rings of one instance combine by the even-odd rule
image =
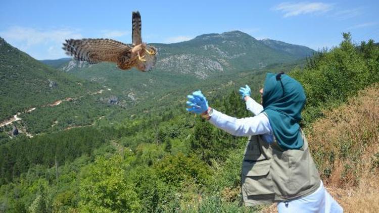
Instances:
[[[247,195],[261,195],[274,193],[270,175],[270,161],[249,163],[242,165],[242,188]]]

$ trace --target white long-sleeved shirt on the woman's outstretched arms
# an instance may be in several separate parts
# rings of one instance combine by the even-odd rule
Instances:
[[[246,109],[252,112],[255,116],[248,118],[233,118],[222,114],[213,109],[213,114],[209,122],[227,133],[234,136],[251,136],[263,135],[263,139],[271,143],[273,134],[270,122],[267,116],[263,113],[263,107],[253,98],[248,98],[246,101]]]

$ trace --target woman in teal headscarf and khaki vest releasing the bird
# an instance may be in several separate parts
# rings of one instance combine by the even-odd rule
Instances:
[[[242,164],[241,188],[245,205],[277,202],[279,212],[343,212],[326,192],[300,129],[304,89],[290,76],[268,73],[262,104],[249,86],[240,93],[256,116],[236,119],[208,106],[201,91],[188,95],[187,111],[200,114],[217,128],[249,136]]]

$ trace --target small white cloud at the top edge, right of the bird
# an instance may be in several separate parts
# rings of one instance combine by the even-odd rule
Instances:
[[[324,13],[333,8],[333,4],[325,4],[320,2],[308,3],[281,3],[273,8],[275,11],[283,13],[283,17],[298,16],[301,14]]]

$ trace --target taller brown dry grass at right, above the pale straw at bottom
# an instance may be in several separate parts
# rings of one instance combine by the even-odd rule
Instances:
[[[333,187],[358,186],[377,174],[379,153],[379,85],[313,124],[307,134],[312,156],[324,182]]]

